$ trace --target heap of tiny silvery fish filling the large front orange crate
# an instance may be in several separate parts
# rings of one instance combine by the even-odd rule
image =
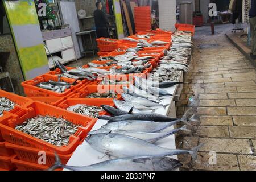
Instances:
[[[65,146],[69,143],[69,136],[75,134],[79,126],[63,118],[38,115],[27,119],[22,125],[17,125],[15,130],[55,146]]]

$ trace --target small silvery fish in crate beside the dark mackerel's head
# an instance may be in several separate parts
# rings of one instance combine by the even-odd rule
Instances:
[[[98,106],[89,106],[85,104],[77,104],[74,106],[70,106],[67,108],[69,111],[73,111],[75,113],[87,115],[89,117],[97,118],[101,111],[104,111],[101,107]]]

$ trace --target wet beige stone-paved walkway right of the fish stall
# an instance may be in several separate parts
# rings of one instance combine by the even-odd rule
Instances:
[[[200,149],[201,164],[179,156],[185,170],[256,170],[256,69],[225,37],[197,35],[191,71],[185,75],[178,117],[197,109],[201,124],[177,135],[177,148]],[[217,164],[209,165],[209,152]]]

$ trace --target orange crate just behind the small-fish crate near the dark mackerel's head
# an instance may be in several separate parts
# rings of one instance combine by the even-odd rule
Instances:
[[[87,96],[89,96],[89,94],[91,93],[109,93],[110,90],[112,90],[113,92],[116,91],[115,87],[111,88],[110,86],[106,87],[106,86],[95,84],[95,85],[85,85],[79,90],[79,93],[80,93],[80,98],[87,98]],[[120,91],[121,88],[118,90]],[[115,94],[117,94],[117,97],[115,99],[120,100],[122,98],[120,93],[115,92]],[[87,98],[87,99],[97,101],[98,99],[102,99],[102,98]],[[103,99],[109,100],[109,101],[113,100],[113,98],[103,98]]]

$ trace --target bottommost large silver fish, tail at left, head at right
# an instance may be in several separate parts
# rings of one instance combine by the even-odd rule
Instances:
[[[48,171],[59,168],[71,171],[172,171],[181,166],[179,160],[161,156],[132,156],[105,160],[89,166],[66,166],[61,164],[59,156],[55,153],[55,164],[48,168]]]

